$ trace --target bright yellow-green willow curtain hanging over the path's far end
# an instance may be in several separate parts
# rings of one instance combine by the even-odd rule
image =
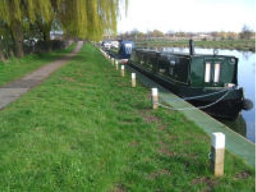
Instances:
[[[57,0],[56,17],[67,35],[100,40],[105,31],[116,33],[120,2],[120,0]]]

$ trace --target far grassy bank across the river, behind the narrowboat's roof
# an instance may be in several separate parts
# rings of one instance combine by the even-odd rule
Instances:
[[[167,40],[147,40],[137,42],[138,47],[188,47],[188,40],[167,41]],[[216,49],[236,49],[239,51],[255,52],[255,40],[216,40],[216,41],[195,41],[195,47],[216,48]]]

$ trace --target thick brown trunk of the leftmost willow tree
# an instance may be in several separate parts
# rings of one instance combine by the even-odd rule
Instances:
[[[20,22],[17,20],[12,23],[12,36],[15,43],[15,55],[22,58],[24,56],[23,31]]]

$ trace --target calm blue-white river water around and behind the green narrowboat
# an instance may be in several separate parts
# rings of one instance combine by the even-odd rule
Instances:
[[[189,49],[164,47],[163,51],[189,52]],[[195,52],[198,54],[212,54],[213,49],[195,48]],[[236,56],[239,59],[238,84],[244,88],[246,99],[250,99],[253,102],[253,109],[250,111],[243,110],[237,120],[220,121],[255,143],[255,53],[250,51],[218,49],[218,54]]]

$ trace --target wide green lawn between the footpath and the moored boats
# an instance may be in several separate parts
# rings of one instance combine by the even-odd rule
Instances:
[[[255,191],[255,170],[85,45],[45,83],[0,112],[0,191]]]

